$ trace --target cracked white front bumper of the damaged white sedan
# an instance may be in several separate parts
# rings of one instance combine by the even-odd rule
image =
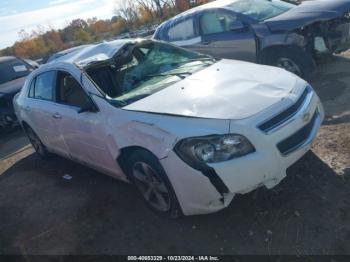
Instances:
[[[255,153],[210,164],[214,170],[212,175],[217,176],[215,179],[208,177],[210,174],[193,169],[175,152],[170,152],[161,164],[167,170],[184,215],[216,212],[227,207],[236,194],[245,194],[261,186],[271,189],[278,185],[286,177],[287,168],[309,151],[323,119],[322,105],[317,95],[312,93],[307,104],[283,128],[269,134],[257,129],[249,134],[256,147]],[[308,133],[304,134],[302,142],[282,153],[281,143],[290,142],[293,135],[298,135],[306,127]],[[215,184],[218,179],[227,191],[220,190]]]

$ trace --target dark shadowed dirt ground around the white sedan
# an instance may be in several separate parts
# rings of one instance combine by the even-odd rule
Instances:
[[[0,254],[350,254],[348,57],[313,80],[327,119],[312,152],[275,189],[213,215],[161,219],[130,185],[62,158],[45,162],[21,131],[1,135]]]

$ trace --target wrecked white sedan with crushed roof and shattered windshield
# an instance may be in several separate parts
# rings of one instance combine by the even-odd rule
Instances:
[[[14,99],[42,157],[132,182],[167,217],[273,188],[324,118],[299,77],[151,40],[87,46],[43,65]],[[127,199],[125,200],[127,201]]]

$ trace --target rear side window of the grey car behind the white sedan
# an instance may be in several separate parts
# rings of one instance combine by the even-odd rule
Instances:
[[[195,38],[193,19],[187,19],[180,22],[168,30],[168,38],[170,42],[181,41]]]

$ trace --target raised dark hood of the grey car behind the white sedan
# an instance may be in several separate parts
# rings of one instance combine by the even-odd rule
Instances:
[[[350,11],[347,0],[305,1],[289,11],[265,21],[271,31],[290,31],[315,22],[342,17]]]

